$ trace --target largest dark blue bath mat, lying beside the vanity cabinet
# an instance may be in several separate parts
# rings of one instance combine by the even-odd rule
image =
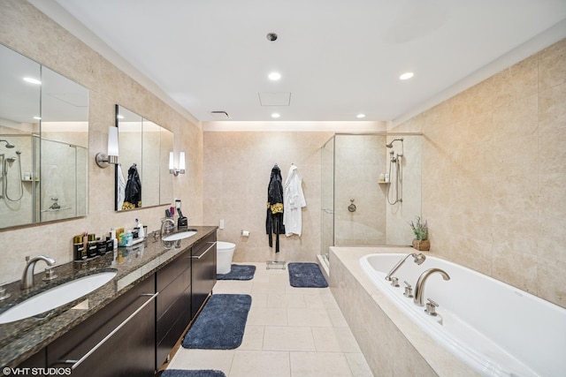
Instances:
[[[239,347],[248,320],[251,296],[210,296],[183,339],[183,347],[199,350],[233,350]]]

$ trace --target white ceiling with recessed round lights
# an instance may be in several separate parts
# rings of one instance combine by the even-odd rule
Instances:
[[[201,121],[394,120],[566,19],[566,0],[56,1]]]

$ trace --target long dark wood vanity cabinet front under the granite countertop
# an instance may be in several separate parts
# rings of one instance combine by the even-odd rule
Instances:
[[[216,283],[216,232],[146,276],[20,368],[154,377]]]

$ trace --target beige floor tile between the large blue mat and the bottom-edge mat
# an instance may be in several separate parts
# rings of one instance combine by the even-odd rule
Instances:
[[[234,350],[187,350],[180,347],[167,369],[216,369],[227,375]]]

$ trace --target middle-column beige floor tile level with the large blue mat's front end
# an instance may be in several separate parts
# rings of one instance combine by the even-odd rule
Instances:
[[[316,351],[310,328],[266,326],[264,351]]]

